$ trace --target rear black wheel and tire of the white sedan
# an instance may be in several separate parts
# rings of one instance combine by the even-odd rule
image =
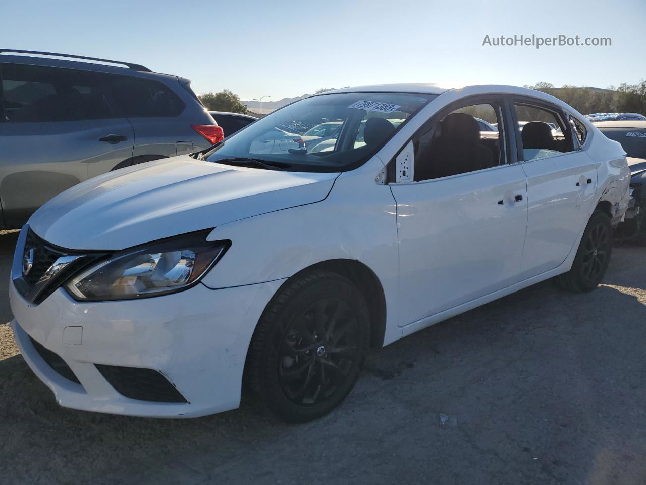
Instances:
[[[612,226],[605,212],[594,211],[585,227],[572,268],[556,277],[557,285],[572,292],[594,290],[603,279],[612,254]]]

